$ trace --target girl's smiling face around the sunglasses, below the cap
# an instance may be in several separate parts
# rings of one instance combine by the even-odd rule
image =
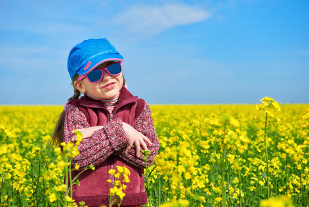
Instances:
[[[97,68],[105,68],[109,66],[114,61],[108,61],[100,64]],[[122,72],[118,75],[109,75],[104,71],[103,78],[96,83],[91,83],[87,78],[82,79],[81,81],[75,81],[74,86],[81,92],[88,92],[94,97],[100,99],[111,99],[116,97],[120,89],[122,88],[123,77]]]

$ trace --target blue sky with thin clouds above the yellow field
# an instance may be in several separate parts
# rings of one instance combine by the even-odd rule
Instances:
[[[0,104],[63,105],[70,50],[102,37],[151,104],[309,103],[308,10],[308,0],[0,0]]]

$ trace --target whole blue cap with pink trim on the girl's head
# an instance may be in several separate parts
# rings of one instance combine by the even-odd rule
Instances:
[[[67,59],[67,70],[73,81],[76,74],[87,75],[107,61],[123,61],[123,57],[107,39],[88,39],[72,48]]]

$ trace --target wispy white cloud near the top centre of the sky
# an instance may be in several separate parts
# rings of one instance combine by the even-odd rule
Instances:
[[[111,23],[124,26],[129,33],[152,36],[174,26],[203,21],[209,17],[211,12],[198,6],[184,4],[134,6],[122,11],[111,20]]]

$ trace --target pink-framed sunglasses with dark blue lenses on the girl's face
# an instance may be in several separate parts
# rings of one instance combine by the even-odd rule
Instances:
[[[119,75],[122,72],[122,61],[112,63],[109,66],[105,68],[96,68],[92,70],[92,72],[89,72],[87,75],[81,75],[81,77],[78,77],[78,81],[81,81],[83,78],[87,77],[88,81],[90,83],[96,83],[100,81],[100,79],[103,78],[104,75],[104,70],[109,74],[109,75]]]

